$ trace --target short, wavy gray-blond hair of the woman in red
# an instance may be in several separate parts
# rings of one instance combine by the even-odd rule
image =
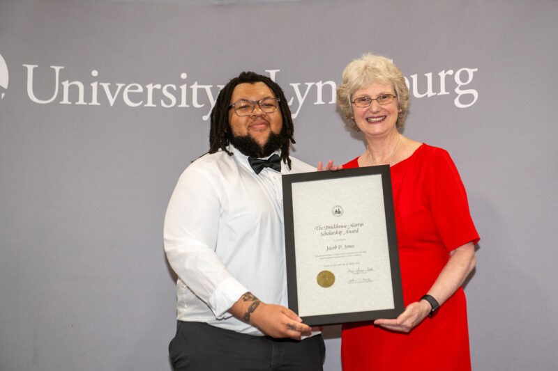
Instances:
[[[368,88],[375,83],[393,86],[399,111],[395,126],[401,131],[409,109],[409,88],[405,84],[405,77],[391,59],[370,53],[349,63],[343,71],[341,84],[337,88],[337,105],[345,122],[359,130],[353,118],[352,95],[356,90]]]

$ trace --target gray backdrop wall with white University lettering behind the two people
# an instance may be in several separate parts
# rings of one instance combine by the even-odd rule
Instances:
[[[169,370],[163,216],[218,85],[278,70],[294,155],[343,163],[363,142],[331,84],[365,52],[399,65],[405,135],[465,182],[474,370],[557,368],[557,17],[555,0],[0,0],[0,370]]]

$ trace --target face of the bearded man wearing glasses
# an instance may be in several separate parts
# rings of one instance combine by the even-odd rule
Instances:
[[[254,84],[239,84],[232,90],[230,104],[240,100],[258,102],[266,97],[275,98],[273,92],[265,83],[258,81]],[[265,113],[259,109],[258,104],[248,116],[238,116],[234,109],[229,110],[229,125],[234,136],[249,136],[258,145],[264,148],[269,141],[271,133],[280,134],[283,125],[281,111]]]

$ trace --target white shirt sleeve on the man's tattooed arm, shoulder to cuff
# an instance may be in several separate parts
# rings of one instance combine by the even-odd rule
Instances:
[[[237,281],[216,254],[220,194],[208,174],[190,166],[172,193],[163,228],[172,269],[216,319],[227,313],[248,289]]]

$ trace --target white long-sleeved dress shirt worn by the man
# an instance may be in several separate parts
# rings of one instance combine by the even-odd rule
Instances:
[[[292,169],[264,168],[230,146],[194,161],[179,178],[165,216],[164,242],[179,276],[177,317],[263,335],[227,312],[245,293],[287,306],[281,174],[316,169],[291,157]]]

